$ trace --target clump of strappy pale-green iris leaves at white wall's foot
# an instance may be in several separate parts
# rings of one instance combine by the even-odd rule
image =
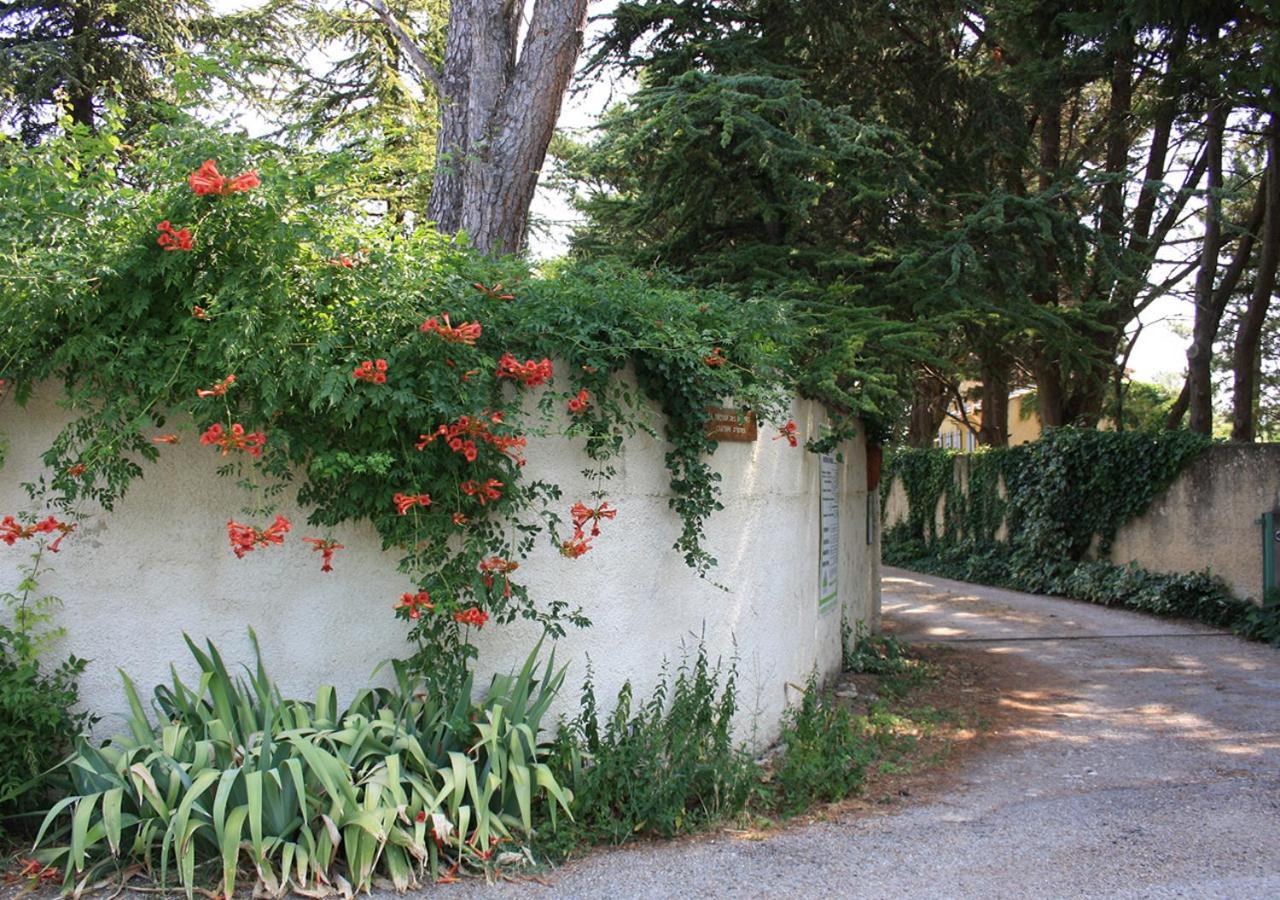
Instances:
[[[535,801],[553,826],[554,809],[568,809],[538,744],[564,671],[554,654],[539,662],[540,645],[477,702],[470,679],[439,696],[397,666],[394,690],[339,709],[333,687],[312,703],[284,699],[251,639],[257,662],[239,679],[212,644],[188,639],[198,685],[174,671],[155,690],[155,722],[123,676],[129,734],[81,744],[74,790],[37,837],[67,890],[134,864],[163,885],[172,864],[191,897],[207,865],[232,896],[244,862],[266,896],[369,891],[375,877],[404,891],[492,867],[530,833]]]

